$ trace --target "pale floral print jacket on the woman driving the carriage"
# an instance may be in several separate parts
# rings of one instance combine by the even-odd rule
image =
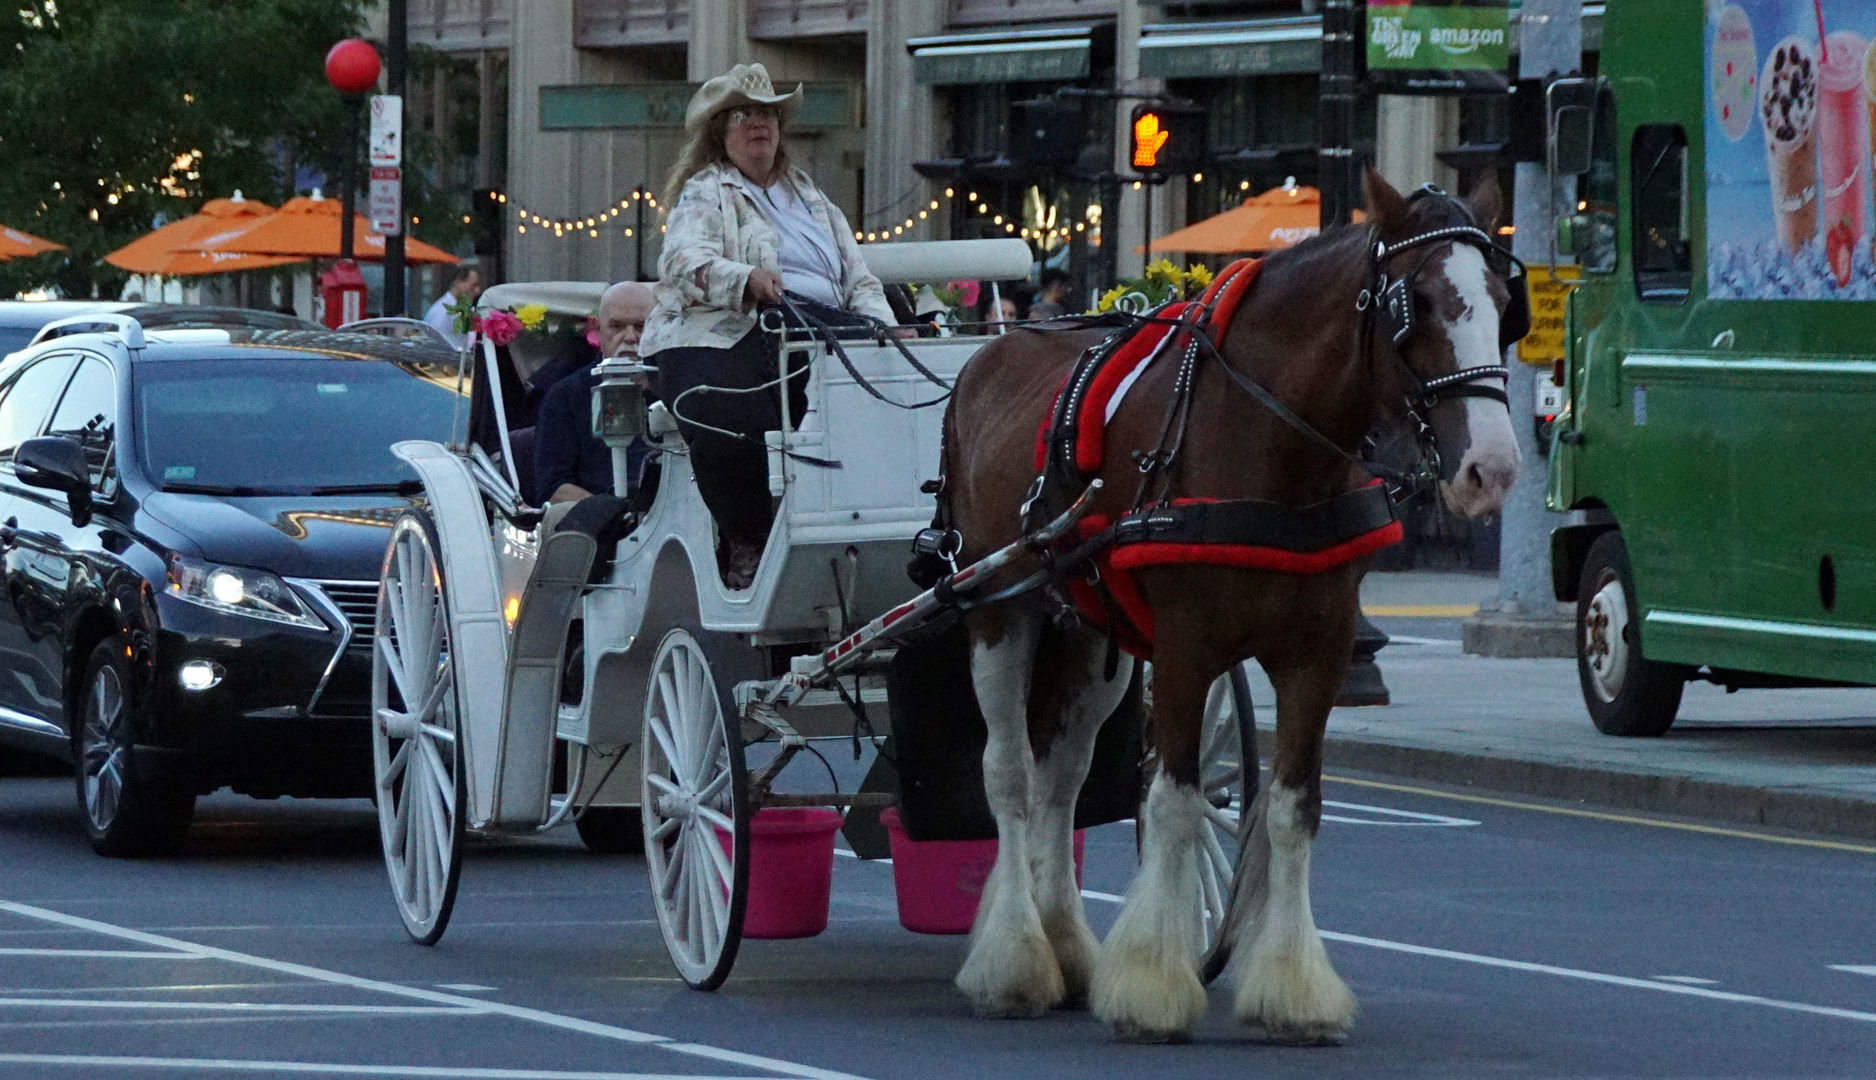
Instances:
[[[840,292],[846,308],[887,324],[897,322],[885,289],[867,270],[854,229],[840,208],[801,169],[788,169],[810,214],[840,249]],[[705,165],[672,206],[658,255],[658,304],[645,319],[640,352],[664,349],[728,349],[756,326],[756,309],[743,306],[743,287],[756,266],[780,274],[780,238],[743,188],[735,165]]]

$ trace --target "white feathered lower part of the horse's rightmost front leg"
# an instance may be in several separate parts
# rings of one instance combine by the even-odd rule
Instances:
[[[1281,1042],[1339,1042],[1354,996],[1328,964],[1309,911],[1309,827],[1302,791],[1270,784],[1270,878],[1264,906],[1238,939],[1236,1014]]]

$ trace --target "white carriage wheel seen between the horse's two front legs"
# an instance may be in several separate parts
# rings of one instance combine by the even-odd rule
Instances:
[[[1251,709],[1251,679],[1238,664],[1212,682],[1204,699],[1204,742],[1199,750],[1204,788],[1204,844],[1199,849],[1199,891],[1204,904],[1204,960],[1201,977],[1210,982],[1231,960],[1227,930],[1236,922],[1240,904],[1236,879],[1249,829],[1249,806],[1257,799],[1257,722]]]

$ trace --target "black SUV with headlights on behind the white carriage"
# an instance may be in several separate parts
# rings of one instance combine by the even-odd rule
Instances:
[[[73,761],[105,855],[223,786],[370,795],[390,444],[465,428],[456,352],[96,319],[0,364],[0,748]]]

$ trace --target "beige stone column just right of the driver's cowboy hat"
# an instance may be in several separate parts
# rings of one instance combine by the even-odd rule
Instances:
[[[870,0],[867,4],[867,178],[855,229],[902,219],[923,206],[934,184],[912,171],[938,158],[938,96],[912,77],[908,38],[944,30],[946,0]],[[942,188],[942,186],[938,186]],[[942,232],[930,232],[942,238]]]

